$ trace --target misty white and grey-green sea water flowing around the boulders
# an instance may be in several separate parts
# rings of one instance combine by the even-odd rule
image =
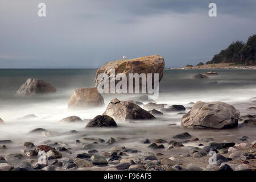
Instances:
[[[82,87],[93,87],[97,69],[1,69],[0,70],[0,118],[6,125],[0,126],[0,140],[12,140],[6,144],[7,150],[1,150],[1,155],[22,150],[24,142],[41,143],[64,142],[68,144],[72,154],[64,154],[64,158],[75,158],[79,152],[87,152],[82,149],[82,138],[102,138],[107,141],[110,137],[117,140],[112,146],[125,146],[136,150],[150,151],[147,144],[141,141],[148,138],[151,142],[156,139],[165,139],[168,142],[179,133],[187,131],[192,137],[213,138],[216,142],[228,140],[239,142],[243,136],[249,137],[249,141],[256,139],[255,128],[238,127],[229,130],[188,130],[180,128],[183,114],[178,112],[167,113],[162,117],[151,121],[117,122],[117,128],[85,128],[88,121],[82,123],[60,123],[65,117],[76,115],[81,119],[92,119],[96,115],[104,113],[110,100],[117,97],[119,100],[127,100],[129,96],[104,94],[105,107],[86,110],[68,110],[68,101],[73,90]],[[189,107],[196,101],[223,101],[233,105],[240,111],[240,115],[256,114],[255,110],[247,110],[256,106],[256,70],[229,69],[215,70],[218,76],[209,79],[192,79],[197,73],[209,70],[164,70],[164,76],[159,85],[158,104],[180,104]],[[50,95],[42,95],[36,98],[14,97],[16,90],[27,78],[39,78],[55,86],[57,92]],[[147,104],[144,102],[143,104]],[[32,119],[20,119],[24,115],[35,114]],[[170,125],[175,123],[176,125]],[[38,127],[52,131],[52,136],[44,137],[40,134],[28,134]],[[67,133],[76,130],[77,133]],[[81,140],[81,144],[75,144],[75,140]],[[91,142],[88,142],[91,143]],[[164,144],[168,147],[168,144]],[[187,146],[192,143],[185,144]],[[98,151],[108,151],[110,147],[100,144]],[[179,148],[171,151],[162,150],[163,154],[186,154],[186,150]],[[133,154],[138,155],[138,154]]]

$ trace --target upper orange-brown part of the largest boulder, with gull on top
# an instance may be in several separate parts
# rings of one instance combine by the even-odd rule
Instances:
[[[127,83],[129,83],[129,73],[152,73],[152,78],[154,78],[154,73],[159,74],[159,82],[163,77],[163,69],[164,69],[164,59],[159,55],[152,55],[146,57],[138,57],[130,60],[115,60],[112,62],[105,63],[100,69],[97,70],[95,77],[95,86],[97,87],[100,82],[104,81],[98,80],[98,75],[101,73],[106,73],[108,78],[110,78],[110,69],[115,69],[115,75],[118,73],[124,73],[127,77]],[[110,80],[110,79],[109,79]],[[115,80],[115,85],[120,80]],[[152,81],[152,85],[154,85],[154,81]],[[140,85],[141,86],[141,85]],[[127,85],[127,90],[129,86]]]

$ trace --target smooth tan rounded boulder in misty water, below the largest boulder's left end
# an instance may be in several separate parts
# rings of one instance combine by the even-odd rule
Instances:
[[[68,102],[69,109],[86,109],[104,106],[104,99],[97,88],[76,89]]]

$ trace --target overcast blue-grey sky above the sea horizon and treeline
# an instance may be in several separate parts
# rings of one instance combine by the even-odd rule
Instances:
[[[155,54],[179,67],[253,34],[255,0],[0,0],[0,68],[98,68]]]

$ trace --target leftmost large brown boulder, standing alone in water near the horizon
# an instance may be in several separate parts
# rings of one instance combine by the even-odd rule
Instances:
[[[30,97],[35,94],[54,92],[56,92],[56,88],[46,81],[38,80],[36,78],[28,78],[27,81],[20,86],[19,90],[16,92],[16,96]]]

